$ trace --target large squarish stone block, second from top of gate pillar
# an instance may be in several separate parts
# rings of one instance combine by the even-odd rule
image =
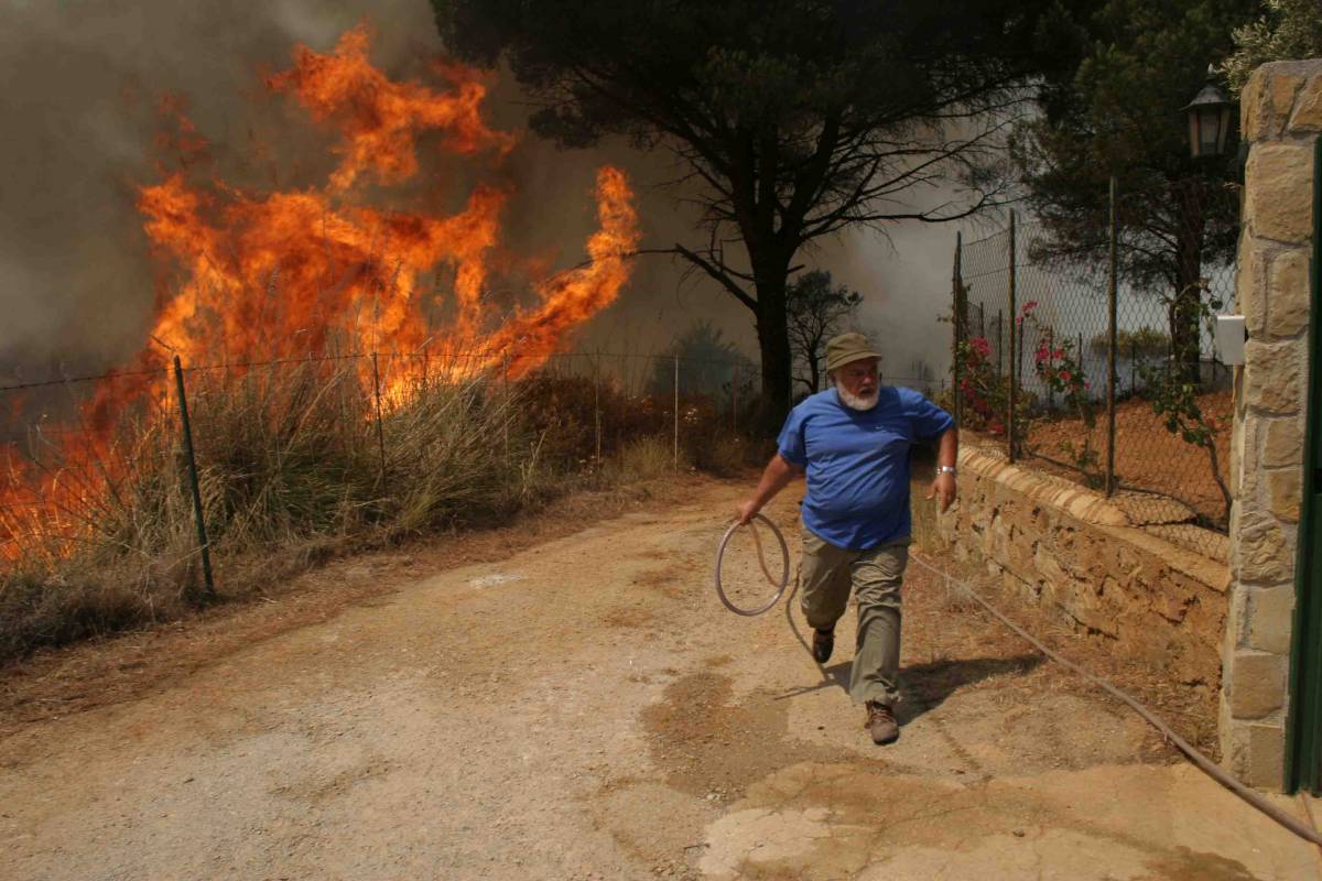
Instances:
[[[1255,236],[1306,244],[1313,234],[1313,148],[1255,144],[1245,169],[1245,221]]]

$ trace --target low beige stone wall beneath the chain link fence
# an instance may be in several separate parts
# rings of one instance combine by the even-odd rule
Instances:
[[[939,528],[956,557],[1077,631],[1170,670],[1173,683],[1215,689],[1229,569],[1192,548],[1222,536],[1170,527],[1186,539],[1177,544],[1136,524],[1125,502],[965,444],[960,502]]]

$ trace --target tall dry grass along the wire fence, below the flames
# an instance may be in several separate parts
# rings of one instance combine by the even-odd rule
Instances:
[[[584,429],[574,409],[584,391],[571,379],[533,376],[506,387],[489,378],[416,378],[390,390],[378,433],[360,369],[323,361],[189,375],[219,600],[259,594],[348,553],[509,522],[572,489],[676,472],[669,437],[635,436],[595,461],[591,416]],[[588,386],[587,402],[591,392]],[[603,411],[642,409],[619,398],[604,400]],[[687,435],[701,437],[702,428]],[[0,571],[0,659],[204,605],[171,416],[124,420],[106,449],[85,461],[52,456],[46,477],[29,483],[49,501],[49,474],[77,482],[79,493],[59,499],[59,528],[50,518],[0,528],[20,551]],[[681,453],[687,469],[689,450]]]

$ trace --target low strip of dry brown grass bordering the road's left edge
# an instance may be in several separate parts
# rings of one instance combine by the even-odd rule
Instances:
[[[250,601],[186,609],[182,617],[112,638],[38,649],[0,664],[0,737],[26,724],[134,700],[223,662],[237,651],[342,610],[379,601],[419,577],[510,555],[619,516],[660,511],[710,486],[702,476],[666,474],[578,489],[488,527],[447,531],[329,560],[290,577],[267,577]],[[259,565],[260,560],[253,560]],[[231,569],[235,561],[226,564]]]

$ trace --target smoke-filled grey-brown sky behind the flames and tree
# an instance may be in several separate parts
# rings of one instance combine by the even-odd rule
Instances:
[[[287,69],[297,42],[325,52],[364,20],[374,32],[371,58],[391,77],[423,77],[443,53],[427,0],[0,0],[0,384],[111,369],[141,347],[153,265],[134,202],[139,186],[159,180],[163,92],[185,99],[226,180],[297,181],[327,157],[287,103],[264,94],[263,70]],[[527,103],[514,83],[497,81],[489,110],[497,127],[518,128]],[[274,143],[279,161],[255,159],[258,143]],[[604,161],[623,165],[639,190],[642,247],[705,243],[660,186],[673,173],[668,155],[564,152],[531,135],[512,157],[520,195],[506,242],[551,254],[558,265],[582,260]],[[464,174],[446,164],[430,172]],[[954,235],[953,225],[850,230],[805,255],[863,295],[861,325],[886,353],[890,375],[907,374],[915,359],[939,371],[948,363],[949,326],[937,317],[948,308]],[[578,343],[656,351],[713,321],[755,355],[751,313],[683,276],[669,258],[641,258],[620,300]]]

